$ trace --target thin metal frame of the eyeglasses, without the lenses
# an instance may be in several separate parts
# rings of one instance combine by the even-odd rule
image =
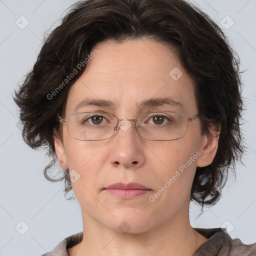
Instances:
[[[152,112],[141,113],[141,114],[139,114],[138,116],[140,116],[140,115],[142,115],[142,114],[161,113],[161,112],[178,113],[178,114],[184,114],[184,115],[186,115],[185,113],[175,112],[175,111],[152,111]],[[97,141],[97,140],[109,139],[109,138],[113,137],[114,134],[117,133],[116,131],[117,131],[117,129],[118,129],[119,121],[122,121],[122,120],[137,121],[137,118],[138,118],[138,116],[137,116],[136,119],[126,119],[126,118],[118,119],[118,117],[115,116],[114,114],[107,113],[107,112],[97,112],[97,111],[76,112],[76,113],[69,114],[68,116],[74,115],[74,114],[80,114],[80,113],[102,113],[102,114],[112,115],[112,116],[114,116],[114,117],[117,119],[117,124],[116,124],[115,127],[114,127],[114,132],[113,132],[112,136],[110,136],[110,137],[108,137],[108,138],[101,138],[101,139],[79,139],[79,138],[72,137],[72,136],[69,134],[68,130],[67,130],[67,133],[68,133],[68,135],[69,135],[71,138],[74,138],[74,139],[77,139],[77,140],[82,140],[82,141]],[[186,117],[186,126],[187,126],[187,122],[192,122],[192,121],[194,121],[195,118],[196,118],[199,114],[200,114],[200,112],[197,113],[197,114],[195,114],[195,115],[193,115],[193,116],[191,116],[191,117]],[[67,118],[68,118],[68,116],[66,116],[66,118],[61,118],[61,117],[58,115],[59,122],[60,122],[60,123],[61,123],[61,122],[62,122],[62,123],[67,123]],[[138,132],[138,130],[137,130],[137,128],[139,128],[139,127],[140,127],[140,126],[139,126],[138,123],[136,122],[135,129],[136,129],[138,135],[140,136],[140,134],[139,134],[139,132]],[[186,133],[186,129],[185,129],[185,133]],[[184,133],[184,135],[185,135],[185,133]],[[184,136],[184,135],[183,135],[183,136]],[[142,136],[140,136],[140,137],[143,138],[143,139],[146,139],[146,140],[153,140],[153,141],[169,141],[169,140],[180,139],[180,138],[182,138],[183,136],[178,137],[178,138],[172,138],[172,139],[147,139],[147,138],[143,138]]]

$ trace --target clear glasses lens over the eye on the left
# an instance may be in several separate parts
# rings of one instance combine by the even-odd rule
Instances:
[[[75,113],[67,117],[69,136],[80,140],[110,138],[114,133],[117,118],[101,112]]]

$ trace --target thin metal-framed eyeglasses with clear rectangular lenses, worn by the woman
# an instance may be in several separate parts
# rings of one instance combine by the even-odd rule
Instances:
[[[68,135],[78,140],[104,140],[111,138],[121,128],[126,131],[130,122],[135,121],[139,136],[147,140],[174,140],[182,138],[186,132],[187,122],[193,121],[198,114],[187,117],[184,113],[158,111],[141,113],[136,119],[118,119],[115,115],[105,112],[78,112],[59,117],[65,122]]]

